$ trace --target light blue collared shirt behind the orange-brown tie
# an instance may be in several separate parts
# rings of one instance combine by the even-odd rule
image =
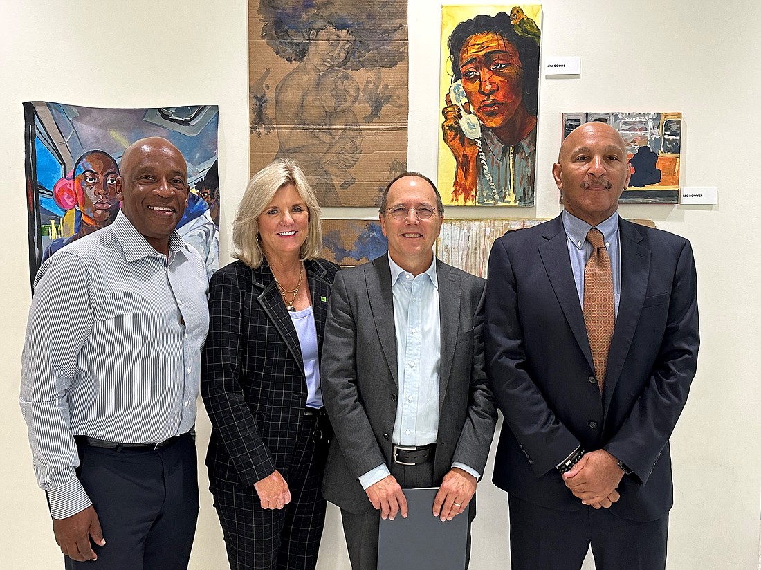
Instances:
[[[586,221],[580,220],[567,210],[562,213],[563,228],[568,237],[568,255],[571,257],[573,279],[578,292],[578,302],[584,305],[584,267],[592,255],[592,244],[587,241],[587,232],[593,227]],[[619,300],[621,298],[621,247],[619,239],[619,216],[614,213],[607,220],[594,226],[603,234],[605,249],[610,257],[610,270],[613,272],[613,302],[618,316]]]

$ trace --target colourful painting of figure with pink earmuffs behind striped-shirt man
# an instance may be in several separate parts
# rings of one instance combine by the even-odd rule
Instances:
[[[211,275],[219,266],[218,109],[215,105],[106,109],[24,103],[30,277],[49,256],[111,224],[119,213],[122,154],[148,136],[182,151],[191,187],[177,231]]]

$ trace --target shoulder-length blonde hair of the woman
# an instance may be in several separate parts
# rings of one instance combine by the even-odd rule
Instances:
[[[280,158],[267,164],[253,175],[238,205],[233,221],[233,257],[256,269],[264,262],[264,252],[259,242],[259,218],[272,202],[272,196],[285,186],[293,184],[304,200],[309,212],[307,239],[298,252],[303,260],[316,260],[323,249],[323,228],[320,221],[320,203],[314,196],[301,166],[290,158]]]

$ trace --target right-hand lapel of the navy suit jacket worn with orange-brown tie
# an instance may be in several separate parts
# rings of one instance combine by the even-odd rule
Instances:
[[[648,289],[650,250],[642,242],[636,224],[619,218],[621,247],[621,297],[616,328],[610,341],[603,401],[607,410],[613,389],[619,380],[623,363],[632,345],[639,314]]]

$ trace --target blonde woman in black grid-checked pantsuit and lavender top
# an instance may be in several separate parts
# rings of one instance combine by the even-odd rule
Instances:
[[[320,206],[294,161],[250,181],[233,225],[237,261],[212,277],[201,390],[209,467],[231,568],[314,568],[332,434],[320,352],[333,277]]]

